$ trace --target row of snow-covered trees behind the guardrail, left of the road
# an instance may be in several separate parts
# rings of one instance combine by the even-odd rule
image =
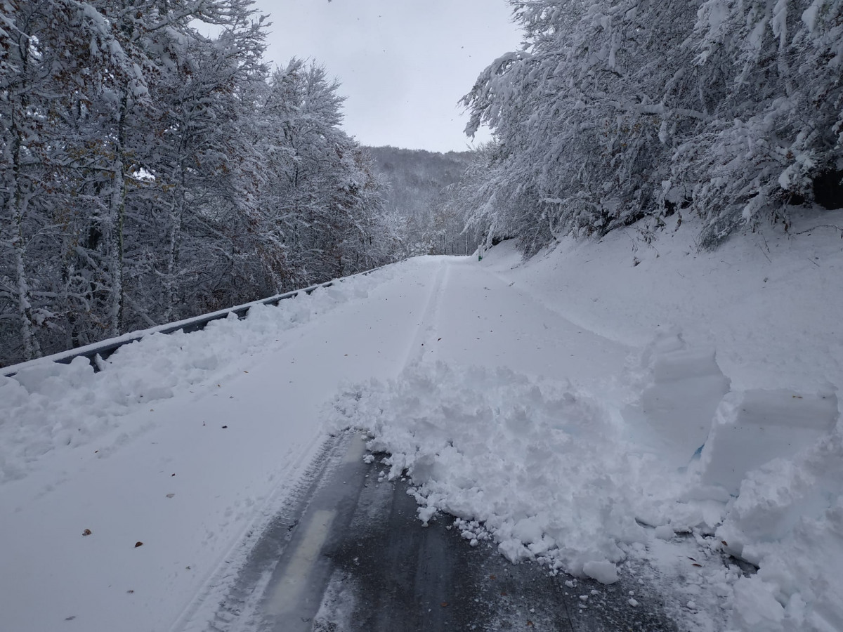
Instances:
[[[0,3],[0,365],[395,260],[338,83],[271,70],[266,25],[250,0]]]

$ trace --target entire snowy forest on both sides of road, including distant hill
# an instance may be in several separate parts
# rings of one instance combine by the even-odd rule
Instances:
[[[843,206],[840,0],[508,3],[462,101],[493,140],[425,155],[361,147],[250,0],[6,0],[0,366],[483,240]]]

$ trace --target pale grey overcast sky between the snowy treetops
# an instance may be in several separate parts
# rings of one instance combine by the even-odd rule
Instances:
[[[266,59],[314,58],[340,80],[363,145],[446,152],[470,142],[457,102],[520,35],[504,0],[257,0]],[[478,134],[478,140],[483,140]]]

